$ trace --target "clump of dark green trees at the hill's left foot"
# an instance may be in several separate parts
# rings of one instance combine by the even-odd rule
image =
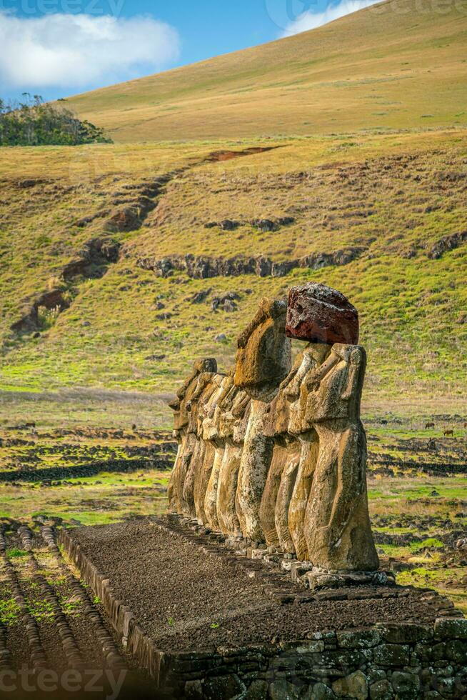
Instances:
[[[0,98],[0,146],[77,146],[108,144],[104,130],[81,121],[64,107],[44,103],[40,95],[21,101]]]

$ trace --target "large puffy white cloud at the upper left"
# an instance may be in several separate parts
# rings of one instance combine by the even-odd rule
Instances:
[[[0,84],[89,88],[160,70],[179,56],[176,29],[151,17],[22,18],[0,11]]]

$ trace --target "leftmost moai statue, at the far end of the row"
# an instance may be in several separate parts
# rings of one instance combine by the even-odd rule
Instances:
[[[174,436],[179,444],[174,469],[172,470],[169,483],[169,510],[182,514],[184,509],[183,490],[186,473],[189,469],[196,446],[196,434],[189,431],[189,410],[192,396],[196,391],[201,374],[214,372],[217,369],[216,360],[204,358],[194,363],[191,374],[184,381],[184,384],[176,392],[176,399],[169,404],[174,411]]]

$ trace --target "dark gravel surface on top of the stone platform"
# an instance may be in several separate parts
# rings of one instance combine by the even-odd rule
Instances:
[[[227,554],[208,554],[202,541],[151,520],[70,534],[164,651],[293,641],[313,631],[436,616],[416,591],[404,598],[281,604],[265,594],[264,579],[248,578]]]

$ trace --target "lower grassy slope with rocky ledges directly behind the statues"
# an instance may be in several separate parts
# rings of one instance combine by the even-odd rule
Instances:
[[[119,392],[163,398],[196,356],[225,368],[258,299],[306,279],[336,286],[361,312],[368,411],[464,410],[467,131],[268,146],[3,151],[4,416],[44,416],[34,397],[81,386],[110,390],[99,410],[109,401],[109,414],[141,411],[146,423],[150,411],[131,414]],[[195,270],[176,269],[186,254]],[[257,256],[283,276],[199,278],[206,261]],[[281,268],[306,256],[310,266]],[[82,416],[96,398],[68,392],[66,404]]]

